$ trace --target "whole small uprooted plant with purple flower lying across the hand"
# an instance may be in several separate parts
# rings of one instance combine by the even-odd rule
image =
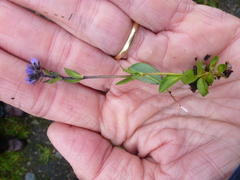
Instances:
[[[96,78],[122,78],[123,80],[116,83],[116,85],[126,84],[133,80],[139,80],[149,84],[158,85],[159,93],[167,91],[173,100],[187,112],[183,106],[181,106],[178,101],[172,96],[169,88],[176,84],[178,81],[181,81],[185,85],[190,86],[190,90],[194,93],[198,92],[204,97],[209,93],[209,86],[212,86],[215,80],[221,78],[229,78],[232,71],[232,66],[229,62],[224,64],[218,64],[219,58],[215,56],[208,62],[210,55],[206,55],[204,60],[196,60],[196,65],[192,69],[186,70],[183,73],[169,73],[169,72],[160,72],[155,67],[146,64],[146,63],[136,63],[132,66],[125,69],[121,67],[122,70],[129,75],[114,75],[114,76],[84,76],[80,73],[65,68],[65,72],[68,76],[62,76],[57,72],[51,72],[46,69],[43,69],[40,65],[40,62],[33,58],[31,60],[31,65],[27,65],[27,83],[33,84],[40,79],[43,82],[48,84],[53,84],[58,81],[66,81],[70,83],[78,83],[82,80],[87,79],[96,79]]]

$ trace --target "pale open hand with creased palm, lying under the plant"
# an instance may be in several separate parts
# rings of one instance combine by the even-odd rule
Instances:
[[[131,19],[140,28],[126,59],[116,61],[111,56],[124,45]],[[80,179],[227,179],[238,167],[238,18],[190,0],[2,0],[0,24],[0,100],[56,121],[48,136]],[[139,81],[25,82],[33,57],[62,75],[64,67],[122,75],[120,65],[137,62],[181,73],[207,54],[229,61],[234,73],[204,98],[186,85],[172,87],[188,113],[168,93]]]

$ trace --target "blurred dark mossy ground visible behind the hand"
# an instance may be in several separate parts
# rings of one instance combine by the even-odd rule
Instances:
[[[195,0],[240,17],[240,0]],[[3,110],[0,107],[0,117]],[[71,166],[51,145],[46,131],[51,121],[24,114],[0,118],[0,133],[27,140],[19,152],[0,154],[0,180],[77,180]]]

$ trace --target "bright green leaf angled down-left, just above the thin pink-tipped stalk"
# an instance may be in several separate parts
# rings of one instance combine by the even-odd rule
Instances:
[[[171,75],[167,75],[163,78],[161,85],[159,86],[158,91],[160,93],[168,90],[172,85],[174,85],[175,83],[177,83],[182,76],[171,76]]]

